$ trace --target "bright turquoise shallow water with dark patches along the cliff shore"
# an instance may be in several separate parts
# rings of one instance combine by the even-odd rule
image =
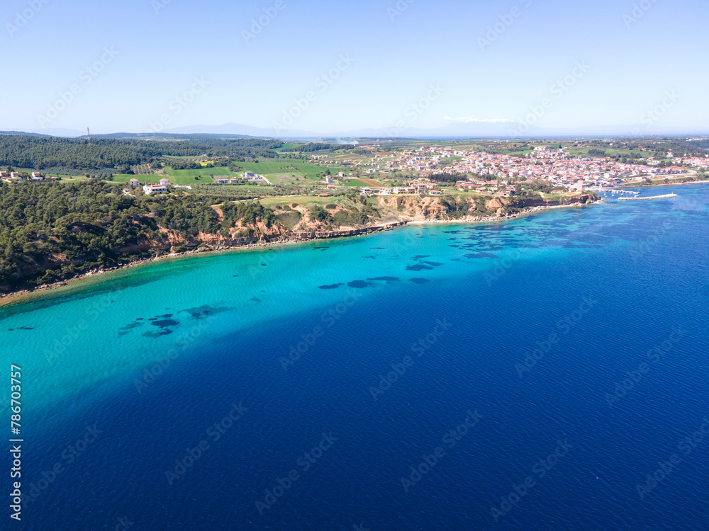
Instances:
[[[549,222],[557,214],[551,215]],[[578,209],[564,213],[563,223],[569,232],[588,225]],[[67,297],[12,307],[1,321],[5,354],[21,359],[34,375],[34,389],[43,391],[35,396],[30,388],[26,399],[36,400],[41,409],[172,349],[189,355],[194,342],[332,307],[350,292],[357,300],[382,290],[406,292],[428,282],[482,276],[491,263],[507,264],[506,259],[545,261],[562,258],[571,246],[588,248],[547,241],[553,228],[545,227],[552,226],[535,227],[526,219],[423,225],[367,238],[155,263],[113,274]],[[530,244],[530,236],[538,241]],[[357,285],[362,281],[366,287]],[[150,319],[156,317],[156,324],[168,326],[153,325]],[[168,333],[160,336],[163,332]],[[193,341],[198,332],[199,341]]]

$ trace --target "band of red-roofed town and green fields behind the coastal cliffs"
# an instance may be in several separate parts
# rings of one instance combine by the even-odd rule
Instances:
[[[362,143],[360,143],[360,141]],[[50,183],[102,178],[123,195],[229,193],[247,198],[329,198],[450,194],[512,196],[525,190],[552,195],[624,185],[697,181],[709,169],[703,139],[576,139],[508,142],[391,142],[381,139],[271,142],[261,156],[162,156],[105,167],[100,175],[10,166],[6,183]],[[254,141],[250,141],[254,142]],[[367,142],[367,143],[364,143]],[[153,144],[154,145],[154,144]],[[174,164],[179,162],[179,165]],[[185,169],[187,168],[187,169]],[[46,172],[46,173],[45,173]]]

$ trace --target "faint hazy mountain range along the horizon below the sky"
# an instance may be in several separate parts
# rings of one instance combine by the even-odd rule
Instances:
[[[522,131],[523,130],[523,131]],[[85,137],[84,131],[72,129],[48,129],[34,132],[0,131],[2,135],[37,135],[53,137]],[[658,135],[707,135],[709,127],[705,130],[681,130],[670,127],[661,131],[644,130],[633,125],[610,125],[591,127],[520,127],[517,122],[450,122],[442,127],[423,129],[420,127],[378,127],[359,130],[343,130],[340,132],[314,132],[307,130],[276,130],[269,127],[253,127],[238,123],[223,125],[191,125],[176,127],[160,133],[113,133],[111,135],[95,135],[96,137],[111,138],[140,138],[173,135],[216,135],[220,137],[259,137],[281,139],[353,139],[353,138],[417,138],[417,139],[464,139],[464,138],[552,138],[552,137],[629,137],[658,136]],[[91,135],[94,136],[94,135]]]

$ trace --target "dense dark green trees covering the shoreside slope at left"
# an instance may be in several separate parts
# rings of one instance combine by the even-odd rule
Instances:
[[[225,203],[224,219],[198,194],[123,195],[99,180],[0,184],[0,290],[69,278],[168,251],[170,229],[186,240],[229,234],[244,223],[278,223],[258,202]],[[218,204],[218,203],[217,203]]]

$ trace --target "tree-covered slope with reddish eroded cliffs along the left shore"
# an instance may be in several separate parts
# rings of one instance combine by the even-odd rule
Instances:
[[[352,196],[337,205],[269,207],[196,193],[126,195],[98,179],[0,183],[0,292],[205,246],[273,241],[297,231],[370,224]]]

